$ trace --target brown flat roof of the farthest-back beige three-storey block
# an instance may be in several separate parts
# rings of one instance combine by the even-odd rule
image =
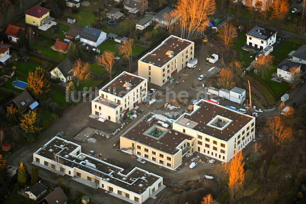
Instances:
[[[181,51],[185,50],[193,42],[179,38],[177,36],[170,36],[164,40],[158,47],[156,47],[147,55],[144,55],[139,61],[153,64],[162,68],[169,60],[177,57]],[[172,55],[167,55],[168,51],[173,51]],[[171,58],[169,56],[172,56]]]

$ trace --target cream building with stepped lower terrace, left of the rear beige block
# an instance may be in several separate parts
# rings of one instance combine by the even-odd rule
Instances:
[[[147,79],[122,72],[99,90],[99,96],[91,101],[91,114],[104,122],[116,123],[132,108],[147,97]]]

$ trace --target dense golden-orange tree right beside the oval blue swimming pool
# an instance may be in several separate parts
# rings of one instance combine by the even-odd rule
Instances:
[[[45,100],[50,91],[50,81],[43,68],[36,67],[35,72],[30,71],[28,75],[28,85],[26,89],[37,100]]]

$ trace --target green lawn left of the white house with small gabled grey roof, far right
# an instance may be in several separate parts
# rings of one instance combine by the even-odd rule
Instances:
[[[273,66],[276,66],[275,64]],[[249,74],[251,74],[253,77],[257,79],[262,84],[266,84],[270,90],[274,93],[276,97],[278,97],[280,94],[282,94],[286,89],[290,87],[290,83],[283,81],[282,83],[272,81],[271,79],[273,76],[271,74],[277,72],[276,68],[272,69],[267,75],[264,76],[264,79],[262,79],[262,74],[254,74],[254,70],[250,71]]]

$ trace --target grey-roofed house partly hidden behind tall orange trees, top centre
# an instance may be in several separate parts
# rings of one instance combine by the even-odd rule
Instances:
[[[153,16],[152,21],[154,21],[157,26],[167,27],[169,25],[172,25],[177,20],[177,18],[175,18],[172,14],[173,11],[173,8],[166,7],[156,13]]]

